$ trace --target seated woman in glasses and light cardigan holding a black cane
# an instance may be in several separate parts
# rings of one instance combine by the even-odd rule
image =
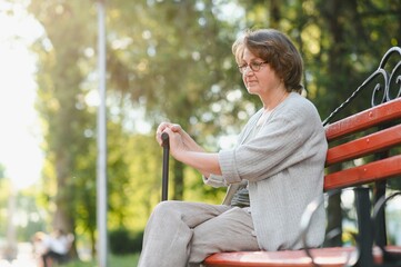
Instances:
[[[287,36],[245,32],[232,46],[242,80],[263,107],[235,148],[205,152],[180,126],[158,127],[171,155],[202,172],[211,186],[229,186],[222,205],[159,204],[144,231],[139,266],[188,266],[219,251],[300,249],[300,218],[323,194],[327,141],[314,106],[300,96],[302,59]],[[249,196],[249,198],[248,198]],[[308,244],[324,236],[324,209],[311,222]]]

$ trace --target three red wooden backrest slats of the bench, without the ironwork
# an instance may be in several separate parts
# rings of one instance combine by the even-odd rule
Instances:
[[[324,190],[401,176],[401,155],[391,152],[401,145],[400,120],[398,98],[328,126]]]

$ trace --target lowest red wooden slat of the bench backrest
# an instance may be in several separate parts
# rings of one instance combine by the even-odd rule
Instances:
[[[401,176],[401,155],[327,175],[324,190],[367,184],[397,175]]]

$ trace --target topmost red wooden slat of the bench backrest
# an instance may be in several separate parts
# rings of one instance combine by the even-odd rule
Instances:
[[[325,129],[325,136],[330,141],[397,118],[401,118],[401,98],[329,125]]]

